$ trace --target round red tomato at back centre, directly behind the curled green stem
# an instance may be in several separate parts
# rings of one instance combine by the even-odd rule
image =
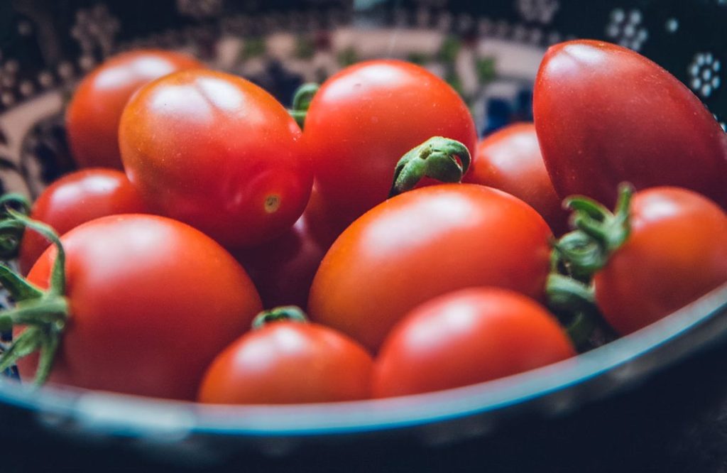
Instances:
[[[433,136],[474,154],[475,123],[462,98],[425,68],[372,60],[321,86],[305,119],[318,191],[350,223],[383,202],[398,160]]]

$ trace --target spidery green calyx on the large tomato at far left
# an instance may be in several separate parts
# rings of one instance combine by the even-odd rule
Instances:
[[[68,299],[65,298],[65,251],[55,231],[44,223],[7,210],[7,221],[22,224],[23,228],[38,231],[57,248],[48,290],[41,290],[20,277],[7,266],[0,265],[0,285],[15,299],[12,309],[0,311],[0,331],[25,327],[22,333],[0,355],[0,372],[15,365],[18,359],[40,351],[34,383],[47,381],[55,359],[60,338],[68,322]]]

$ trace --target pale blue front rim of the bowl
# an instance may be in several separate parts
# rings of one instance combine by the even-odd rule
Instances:
[[[486,416],[542,401],[557,410],[553,395],[585,386],[608,373],[608,389],[627,386],[727,334],[727,284],[670,316],[578,357],[485,383],[414,396],[308,405],[199,405],[124,394],[47,386],[39,391],[0,383],[0,402],[33,410],[44,418],[75,423],[81,431],[122,437],[182,438],[188,434],[241,437],[310,437],[365,434],[471,416]],[[709,322],[722,325],[710,327]],[[688,337],[700,328],[699,339]],[[711,330],[710,330],[711,329]],[[676,341],[682,343],[674,349]],[[670,348],[671,347],[671,348]],[[667,356],[664,349],[670,348]],[[659,352],[643,369],[628,370]],[[574,406],[596,399],[566,397]],[[567,407],[567,406],[566,406]]]

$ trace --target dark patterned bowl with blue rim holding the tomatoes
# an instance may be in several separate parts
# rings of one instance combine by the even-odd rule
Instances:
[[[651,57],[723,121],[726,20],[727,2],[721,0],[3,2],[0,188],[35,197],[75,168],[63,129],[65,101],[85,72],[124,49],[190,52],[252,79],[284,103],[304,81],[320,81],[357,60],[398,57],[425,65],[459,90],[484,135],[532,118],[532,83],[540,58],[550,44],[574,38],[603,39]],[[67,386],[30,391],[0,383],[0,413],[11,427],[0,438],[19,452],[30,451],[25,450],[28,442],[50,445],[50,457],[22,455],[33,466],[79,464],[79,452],[87,465],[99,467],[115,458],[134,468],[154,465],[155,471],[250,462],[286,469],[351,466],[352,458],[358,458],[354,464],[362,471],[402,466],[401,458],[419,469],[445,469],[437,461],[446,463],[442,458],[451,461],[457,453],[482,459],[483,452],[512,460],[517,449],[503,446],[510,440],[537,438],[552,448],[547,443],[552,438],[543,432],[554,429],[569,432],[569,442],[576,445],[575,424],[569,423],[577,421],[572,419],[593,420],[601,409],[619,412],[624,399],[639,399],[643,408],[648,401],[642,397],[653,396],[654,386],[691,379],[694,360],[712,366],[704,357],[722,353],[726,312],[723,285],[643,330],[574,359],[390,400],[207,406]],[[563,430],[563,425],[569,427]],[[617,429],[618,424],[609,425]],[[523,434],[523,429],[540,433]]]

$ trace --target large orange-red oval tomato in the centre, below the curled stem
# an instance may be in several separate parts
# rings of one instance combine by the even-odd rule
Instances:
[[[313,279],[311,319],[376,351],[419,303],[494,285],[542,299],[552,237],[525,202],[496,189],[414,189],[366,212],[341,234]]]

